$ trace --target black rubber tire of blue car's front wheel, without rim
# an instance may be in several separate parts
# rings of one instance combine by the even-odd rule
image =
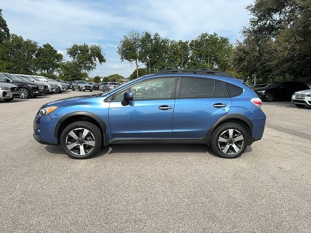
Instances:
[[[91,133],[93,133],[94,137],[95,137],[95,147],[93,148],[93,150],[83,156],[79,156],[76,155],[74,153],[72,153],[70,150],[68,150],[67,146],[66,146],[66,137],[68,135],[68,133],[71,130],[74,130],[76,128],[85,128],[87,130],[89,130]],[[88,159],[93,157],[102,147],[102,132],[101,130],[94,125],[93,123],[90,122],[86,122],[86,121],[77,121],[74,123],[71,123],[69,126],[67,126],[64,131],[62,132],[61,136],[60,136],[60,145],[62,146],[63,150],[66,152],[66,154],[73,159]]]

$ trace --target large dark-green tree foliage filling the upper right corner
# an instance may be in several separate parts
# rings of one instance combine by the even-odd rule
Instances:
[[[253,18],[237,41],[233,65],[259,81],[311,82],[311,0],[255,0]]]

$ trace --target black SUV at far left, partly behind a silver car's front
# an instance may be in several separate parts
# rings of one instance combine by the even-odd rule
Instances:
[[[0,82],[7,82],[17,85],[20,99],[37,97],[43,94],[43,85],[22,81],[20,78],[12,74],[0,73]]]

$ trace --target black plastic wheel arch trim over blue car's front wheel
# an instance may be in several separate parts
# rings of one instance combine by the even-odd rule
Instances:
[[[81,120],[93,123],[100,129],[102,134],[106,133],[107,126],[104,123],[104,120],[99,116],[89,112],[73,112],[63,116],[57,122],[54,130],[54,136],[57,138],[57,143],[60,144],[60,135],[69,124]]]

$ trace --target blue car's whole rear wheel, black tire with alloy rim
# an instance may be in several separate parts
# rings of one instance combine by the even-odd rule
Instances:
[[[214,153],[226,159],[239,157],[246,150],[247,145],[248,133],[241,125],[236,123],[225,123],[217,127],[210,142],[210,147]]]

